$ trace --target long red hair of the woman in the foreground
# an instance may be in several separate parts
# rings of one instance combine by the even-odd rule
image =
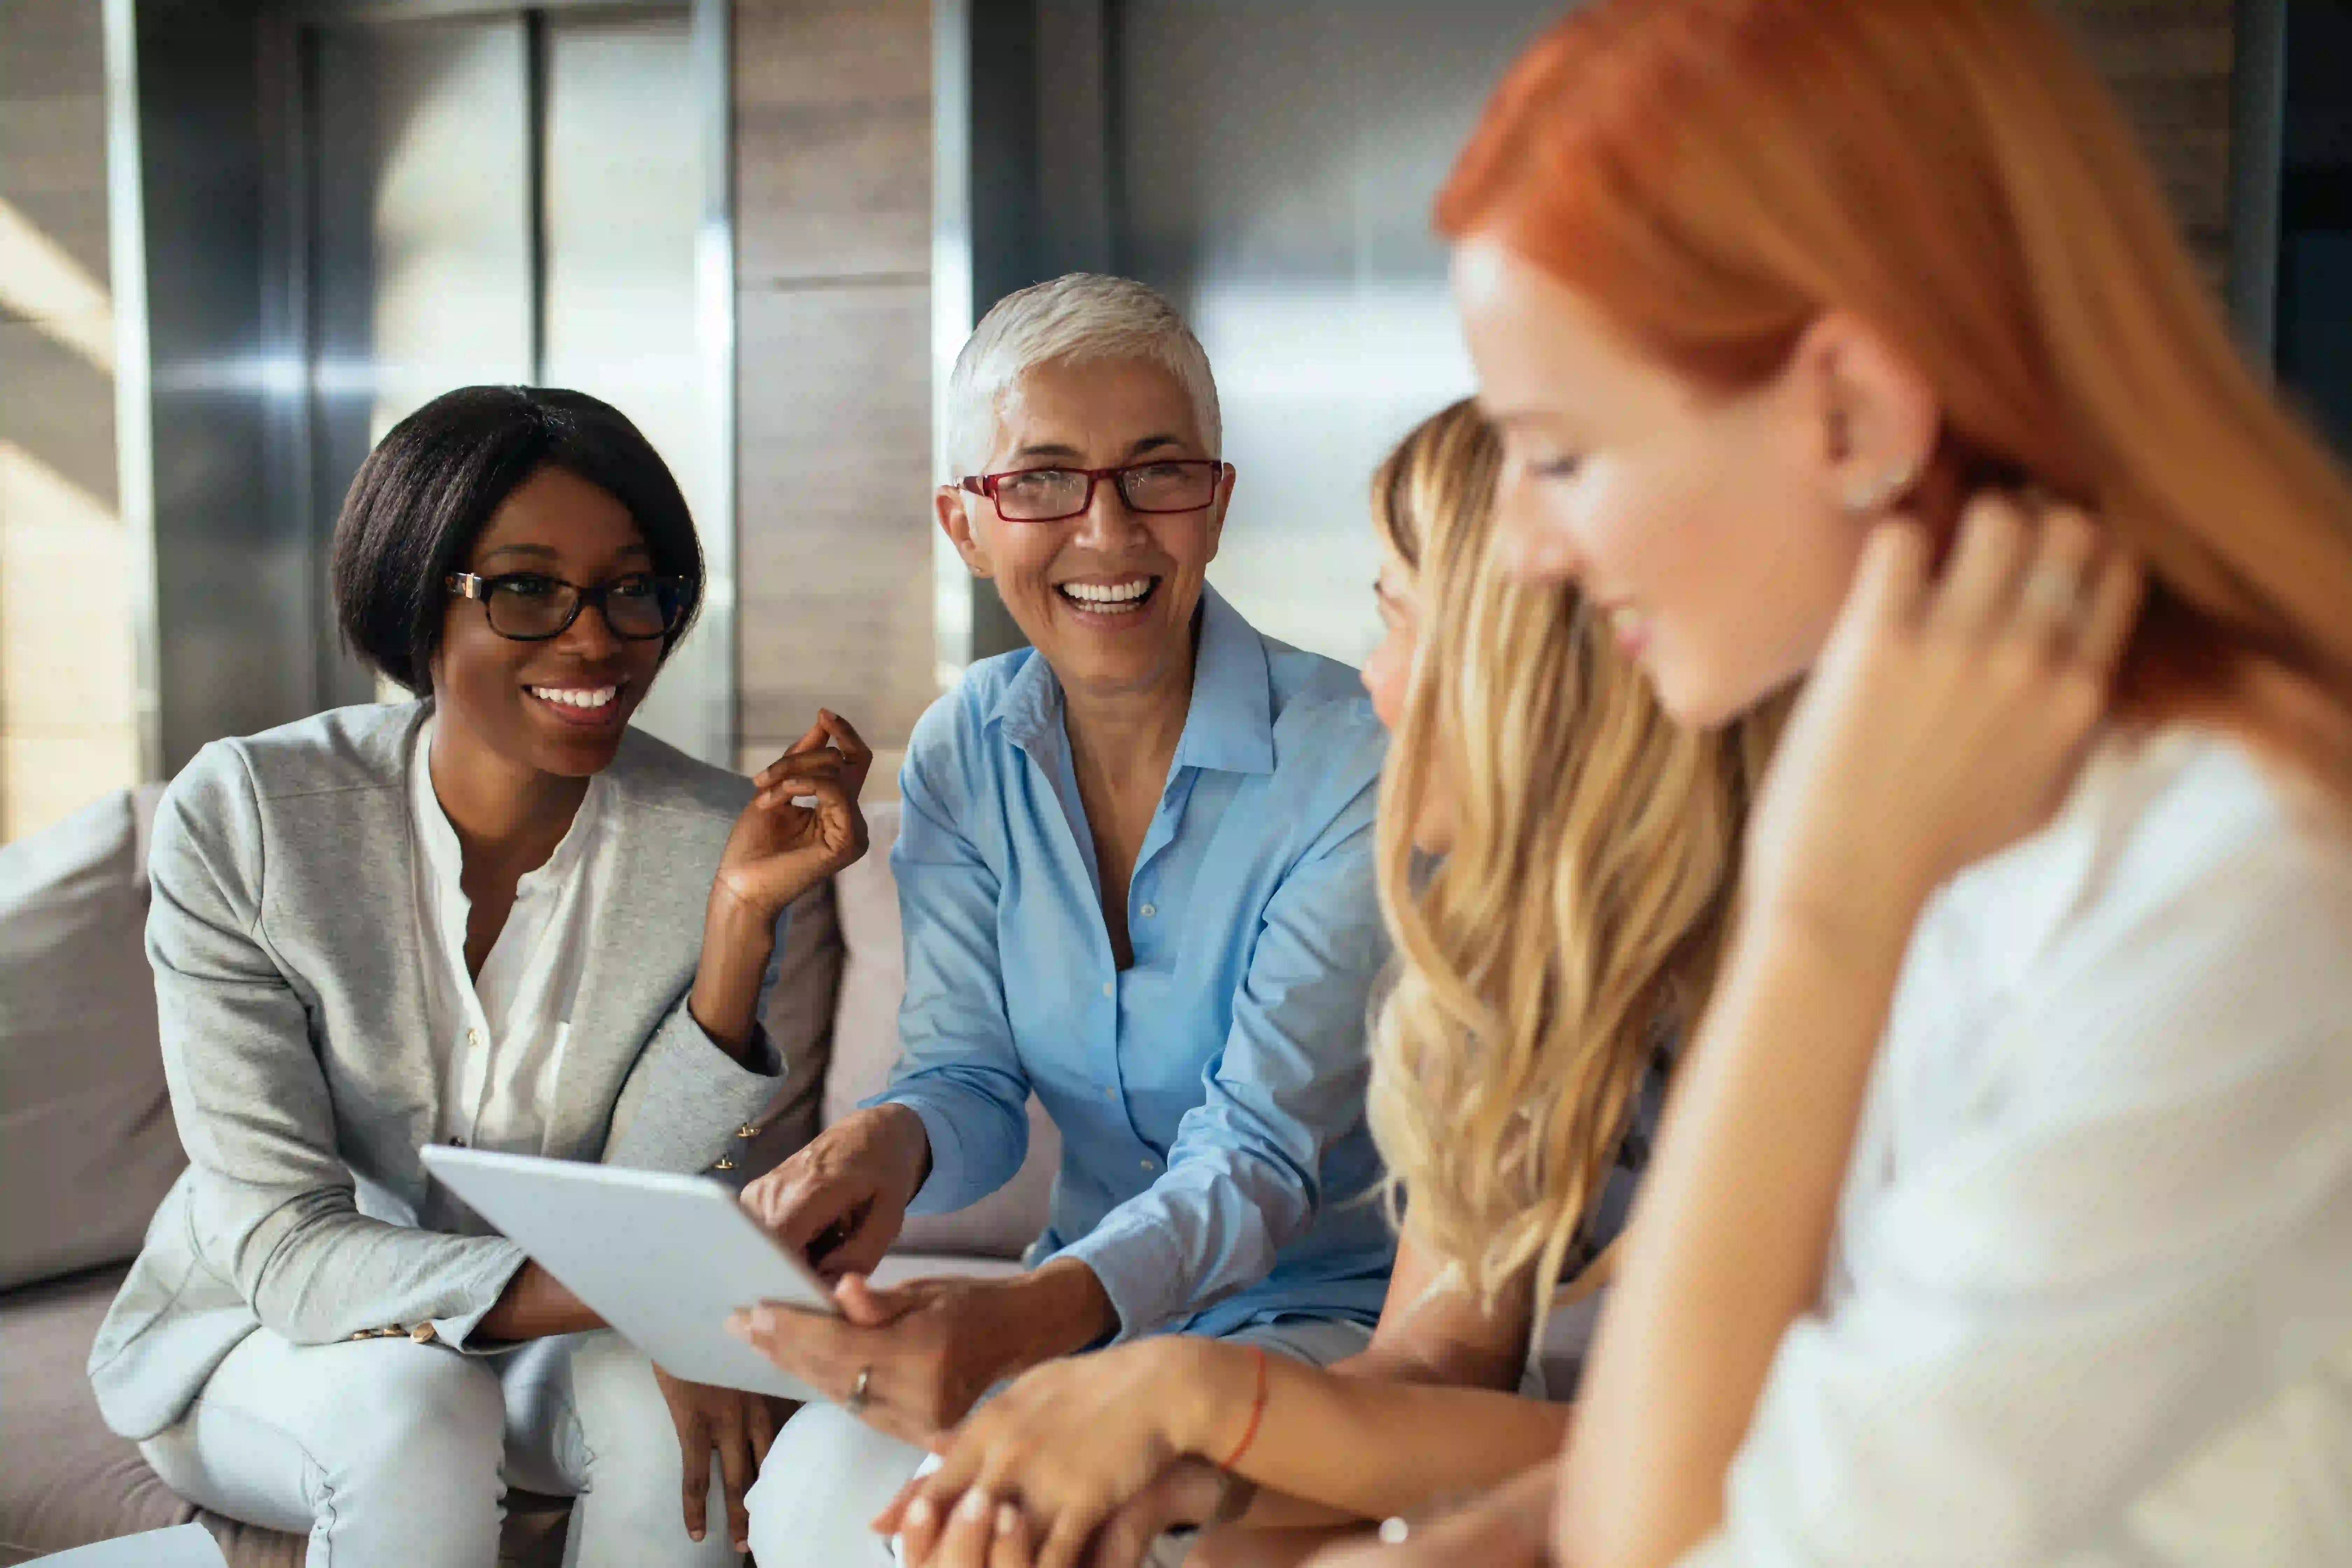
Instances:
[[[1597,0],[1503,78],[1437,226],[1724,390],[1856,310],[1943,400],[1922,512],[2032,480],[2147,562],[2122,717],[2218,719],[2352,795],[2352,484],[2032,0]]]

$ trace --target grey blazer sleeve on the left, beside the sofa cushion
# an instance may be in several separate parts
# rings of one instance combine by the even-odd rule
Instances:
[[[205,1255],[296,1345],[430,1321],[463,1347],[522,1248],[358,1211],[308,1009],[256,936],[263,853],[245,759],[214,743],[158,813],[148,910],[165,1079]]]

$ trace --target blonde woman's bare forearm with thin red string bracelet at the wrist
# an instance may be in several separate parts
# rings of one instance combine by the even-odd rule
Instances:
[[[1223,1465],[1258,1408],[1258,1352],[1195,1340],[1190,1359],[1183,1382],[1197,1413],[1183,1441]],[[1479,1493],[1557,1455],[1569,1408],[1496,1389],[1341,1375],[1268,1354],[1256,1422],[1230,1465],[1237,1476],[1355,1519],[1381,1519]]]

